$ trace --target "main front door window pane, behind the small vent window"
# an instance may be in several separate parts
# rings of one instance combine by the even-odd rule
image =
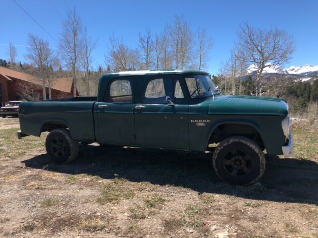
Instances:
[[[153,79],[147,85],[143,103],[165,103],[165,96],[163,79]]]

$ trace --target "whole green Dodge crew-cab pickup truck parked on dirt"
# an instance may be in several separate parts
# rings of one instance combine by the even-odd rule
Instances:
[[[203,71],[109,73],[97,97],[22,102],[19,117],[18,138],[50,132],[45,147],[56,163],[73,161],[79,142],[188,152],[214,144],[220,179],[251,184],[264,173],[265,149],[293,153],[286,101],[222,95]]]

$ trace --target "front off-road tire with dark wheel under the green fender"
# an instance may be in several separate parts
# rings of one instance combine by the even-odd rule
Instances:
[[[221,141],[213,153],[212,163],[220,179],[236,185],[253,184],[265,171],[262,149],[243,136],[233,136]]]

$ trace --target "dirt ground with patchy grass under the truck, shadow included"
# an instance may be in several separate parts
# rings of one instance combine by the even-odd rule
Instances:
[[[17,140],[10,120],[0,119],[0,237],[318,237],[317,129],[295,128],[295,158],[267,158],[260,182],[239,187],[217,178],[211,153],[92,144],[57,165],[45,135]]]

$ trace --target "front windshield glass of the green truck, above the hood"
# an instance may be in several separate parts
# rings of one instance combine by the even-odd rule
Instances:
[[[191,98],[209,97],[219,94],[208,75],[191,75],[185,77]]]

